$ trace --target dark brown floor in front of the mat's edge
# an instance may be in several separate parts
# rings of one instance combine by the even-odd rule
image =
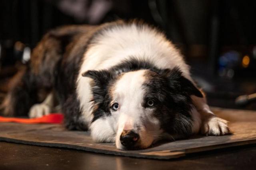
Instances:
[[[150,160],[0,142],[0,170],[255,169],[256,145]]]

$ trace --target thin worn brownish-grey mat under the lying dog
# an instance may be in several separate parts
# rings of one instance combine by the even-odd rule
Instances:
[[[62,125],[0,123],[0,141],[156,159],[178,158],[188,153],[256,143],[256,111],[216,107],[212,110],[218,116],[230,121],[233,135],[195,136],[186,140],[159,144],[145,150],[126,151],[116,149],[113,143],[94,143],[89,133],[67,131]]]

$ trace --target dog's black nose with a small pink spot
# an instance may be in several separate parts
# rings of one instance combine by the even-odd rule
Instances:
[[[133,147],[139,139],[139,135],[133,131],[123,131],[120,142],[124,147]]]

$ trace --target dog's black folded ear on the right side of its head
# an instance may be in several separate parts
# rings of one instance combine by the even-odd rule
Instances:
[[[203,97],[198,88],[196,88],[190,80],[182,76],[182,72],[178,67],[175,67],[172,70],[165,69],[162,71],[162,75],[168,78],[171,88],[182,93],[187,93],[190,96],[195,95],[200,98]]]

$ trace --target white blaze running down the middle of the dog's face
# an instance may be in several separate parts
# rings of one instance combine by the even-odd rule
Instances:
[[[140,120],[140,114],[143,112],[141,104],[144,97],[142,88],[145,81],[144,72],[145,70],[127,72],[114,86],[114,100],[119,104],[119,109],[113,112],[119,115],[116,133],[116,147],[118,149],[122,149],[120,135],[124,128],[134,130],[134,126]]]

